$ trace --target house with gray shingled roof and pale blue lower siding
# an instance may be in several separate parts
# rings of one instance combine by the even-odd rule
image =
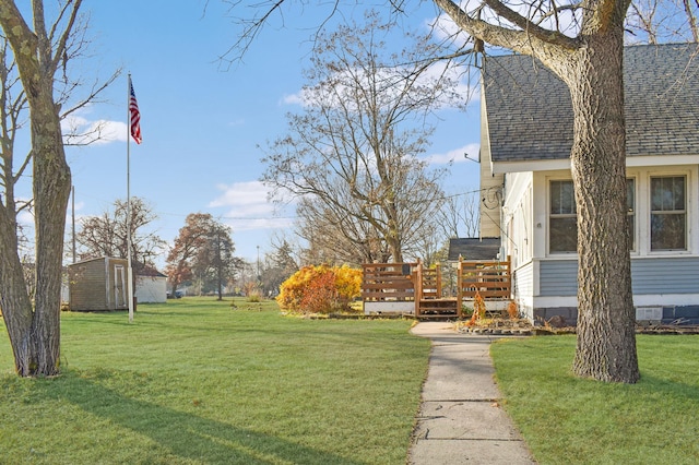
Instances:
[[[626,227],[638,320],[699,322],[697,53],[697,44],[625,49]],[[566,85],[531,57],[488,57],[479,234],[500,237],[513,298],[533,321],[577,320],[571,145]]]

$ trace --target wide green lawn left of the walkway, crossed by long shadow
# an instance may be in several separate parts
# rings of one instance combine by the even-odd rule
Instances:
[[[0,463],[403,464],[429,341],[185,298],[63,313],[62,374],[20,379],[0,330]]]

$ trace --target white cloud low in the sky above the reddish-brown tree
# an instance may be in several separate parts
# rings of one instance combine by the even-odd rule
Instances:
[[[209,206],[226,208],[222,219],[234,231],[287,228],[293,223],[293,218],[275,211],[275,205],[268,201],[269,189],[260,181],[218,184],[217,188],[223,193]]]

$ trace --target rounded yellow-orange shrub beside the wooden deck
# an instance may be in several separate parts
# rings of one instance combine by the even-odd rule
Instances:
[[[362,271],[348,266],[309,265],[282,283],[276,301],[285,310],[330,313],[350,310],[360,295]]]

